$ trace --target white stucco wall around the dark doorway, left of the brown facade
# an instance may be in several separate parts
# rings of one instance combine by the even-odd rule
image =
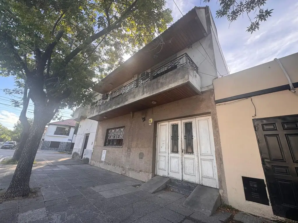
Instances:
[[[84,146],[85,139],[86,139],[86,134],[89,134],[88,144],[87,144],[86,150],[84,151],[83,159],[88,158],[90,160],[93,146],[94,146],[94,141],[95,141],[97,123],[98,123],[97,121],[90,120],[90,119],[83,119],[80,121],[79,128],[77,131],[76,140],[75,140],[74,149],[72,150],[73,155],[74,155],[74,153],[77,153],[77,154],[79,154],[79,157],[82,156],[83,146]],[[72,157],[74,157],[74,156],[72,156]],[[76,157],[76,158],[78,158],[78,157]]]

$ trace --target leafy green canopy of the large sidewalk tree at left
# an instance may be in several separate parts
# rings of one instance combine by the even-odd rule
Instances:
[[[0,75],[25,75],[33,103],[74,108],[167,28],[164,0],[0,0]]]

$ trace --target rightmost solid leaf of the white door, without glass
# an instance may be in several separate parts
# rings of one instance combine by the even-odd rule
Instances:
[[[215,161],[215,146],[211,117],[198,117],[198,160],[200,184],[218,188],[217,168]]]

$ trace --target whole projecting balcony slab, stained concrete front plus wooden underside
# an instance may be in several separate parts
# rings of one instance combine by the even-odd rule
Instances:
[[[102,121],[201,94],[201,78],[189,64],[90,109],[88,118]],[[156,104],[153,104],[155,101]]]

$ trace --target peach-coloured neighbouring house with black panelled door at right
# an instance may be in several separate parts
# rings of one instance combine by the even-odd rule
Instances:
[[[298,221],[298,53],[279,61],[214,80],[215,103],[229,204]]]

